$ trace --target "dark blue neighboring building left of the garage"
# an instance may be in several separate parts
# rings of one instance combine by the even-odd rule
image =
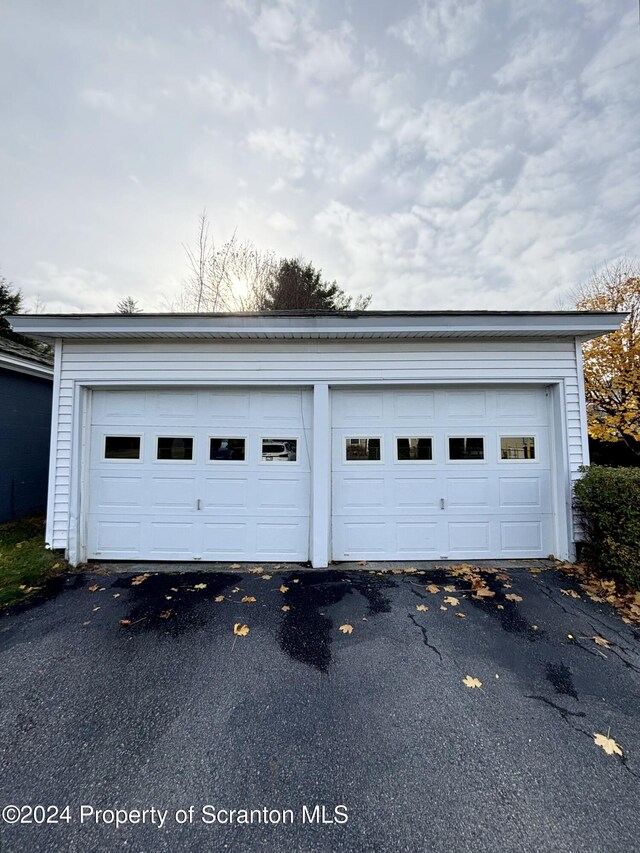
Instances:
[[[0,522],[47,505],[53,359],[0,338]]]

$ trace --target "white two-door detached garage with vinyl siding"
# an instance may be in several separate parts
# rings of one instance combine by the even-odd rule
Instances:
[[[69,562],[573,559],[584,341],[623,314],[12,318],[55,350]]]

